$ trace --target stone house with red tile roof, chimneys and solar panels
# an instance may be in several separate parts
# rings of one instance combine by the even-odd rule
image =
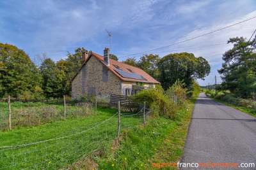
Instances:
[[[109,59],[109,48],[104,57],[94,52],[83,53],[83,64],[70,80],[72,99],[84,94],[108,97],[109,94],[132,95],[140,89],[159,84],[142,69]]]

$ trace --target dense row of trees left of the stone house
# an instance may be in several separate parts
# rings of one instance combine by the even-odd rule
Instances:
[[[46,53],[37,55],[35,64],[29,55],[14,45],[0,43],[0,98],[58,98],[71,93],[68,82],[82,64],[82,53],[67,53],[67,59],[54,62]]]

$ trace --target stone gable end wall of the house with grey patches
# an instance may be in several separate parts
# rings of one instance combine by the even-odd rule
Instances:
[[[92,56],[72,81],[72,99],[84,94],[96,94],[99,97],[122,94],[122,83],[108,70],[108,66]]]

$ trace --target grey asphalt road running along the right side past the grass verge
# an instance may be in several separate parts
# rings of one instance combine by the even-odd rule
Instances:
[[[256,118],[200,94],[194,106],[181,162],[213,162],[220,163],[220,166],[222,162],[238,163],[238,166],[254,163],[255,167],[180,169],[256,169]]]

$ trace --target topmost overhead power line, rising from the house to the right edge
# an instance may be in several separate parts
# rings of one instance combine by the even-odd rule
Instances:
[[[248,21],[248,20],[252,20],[253,18],[256,18],[256,17],[252,17],[252,18],[249,18],[249,19],[247,19],[247,20],[243,20],[243,21],[241,21],[241,22],[237,22],[236,24],[232,24],[232,25],[229,25],[229,26],[227,26],[227,27],[223,27],[223,28],[221,28],[221,29],[217,29],[217,30],[215,30],[215,31],[207,32],[206,34],[202,34],[202,35],[196,36],[196,37],[194,37],[194,38],[186,39],[186,40],[180,41],[180,42],[178,42],[178,43],[173,43],[173,44],[171,44],[171,45],[162,46],[162,47],[159,47],[159,48],[155,48],[155,49],[153,49],[153,50],[148,50],[148,51],[140,52],[140,53],[152,52],[152,51],[155,51],[155,50],[159,50],[159,49],[162,49],[162,48],[166,48],[166,47],[168,47],[168,46],[178,45],[178,44],[180,44],[180,43],[184,43],[184,42],[186,42],[186,41],[190,41],[190,40],[192,40],[192,39],[200,38],[200,37],[202,37],[202,36],[206,36],[206,35],[208,35],[208,34],[212,34],[213,32],[221,31],[222,29],[227,29],[228,27],[232,27],[232,26],[234,26],[234,25],[241,24],[241,23],[246,22],[246,21]],[[129,57],[129,56],[131,56],[131,55],[137,55],[137,54],[140,54],[140,53],[133,53],[133,54],[125,55],[125,56],[121,56],[121,57]],[[119,58],[120,58],[120,57],[119,57]]]

